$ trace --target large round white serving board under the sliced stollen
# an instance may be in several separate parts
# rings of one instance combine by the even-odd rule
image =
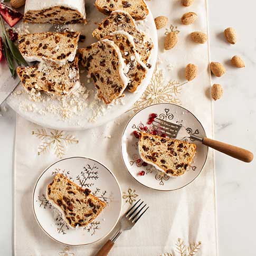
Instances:
[[[84,43],[80,43],[79,48],[88,46],[89,44],[97,41],[92,37],[91,33],[96,29],[97,23],[106,17],[97,10],[94,3],[95,0],[86,1],[88,24],[65,25],[65,27],[69,27],[71,30],[80,31],[83,35],[86,35],[86,41]],[[71,100],[71,103],[67,106],[67,110],[64,109],[63,111],[58,111],[58,108],[62,109],[62,106],[65,106],[65,102],[52,99],[50,100],[47,97],[44,97],[42,100],[33,101],[25,92],[21,84],[17,87],[16,93],[8,97],[8,105],[10,105],[10,107],[20,116],[34,122],[35,124],[61,130],[84,130],[100,126],[117,118],[122,113],[129,110],[144,93],[155,69],[158,40],[154,17],[149,11],[149,15],[144,21],[136,23],[141,31],[144,31],[149,37],[151,37],[154,44],[149,60],[152,67],[148,70],[146,78],[138,87],[136,93],[125,91],[125,97],[122,98],[117,105],[106,107],[102,102],[95,102],[94,95],[96,89],[91,82],[88,82],[86,72],[84,72],[80,74],[80,81],[84,83],[86,88],[93,90],[93,92],[89,93],[89,97],[87,99],[85,99],[87,94],[81,94],[81,96],[79,94],[80,98],[78,100],[80,101],[80,105],[79,103],[74,103],[77,99],[73,101]],[[29,31],[30,33],[43,32],[48,31],[50,27],[51,24],[29,24]],[[7,65],[5,65],[5,67],[3,65],[0,66],[0,73],[3,80],[6,80],[10,76]],[[88,107],[81,107],[86,104]],[[95,104],[99,106],[95,106]]]

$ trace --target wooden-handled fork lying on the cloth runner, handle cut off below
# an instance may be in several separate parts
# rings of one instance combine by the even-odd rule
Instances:
[[[122,216],[120,220],[120,228],[116,232],[116,234],[108,240],[102,248],[98,251],[96,256],[106,256],[108,255],[109,251],[112,249],[115,241],[117,240],[118,236],[125,230],[130,230],[135,223],[140,219],[140,217],[148,210],[149,206],[144,204],[144,202],[137,201],[134,206],[132,206],[124,216]]]

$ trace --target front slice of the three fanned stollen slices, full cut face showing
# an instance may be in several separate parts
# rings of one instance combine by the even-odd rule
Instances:
[[[124,59],[118,46],[104,39],[79,49],[81,64],[98,89],[98,97],[106,104],[122,96],[129,83]]]

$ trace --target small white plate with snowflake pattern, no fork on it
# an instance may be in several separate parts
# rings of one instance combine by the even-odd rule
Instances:
[[[56,173],[62,173],[107,203],[100,215],[86,227],[71,229],[46,199],[46,186]],[[110,170],[86,157],[70,157],[55,162],[40,175],[33,192],[33,211],[43,231],[56,242],[80,246],[97,242],[117,224],[122,208],[121,189]]]

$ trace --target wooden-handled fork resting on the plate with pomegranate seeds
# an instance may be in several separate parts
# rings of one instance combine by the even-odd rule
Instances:
[[[217,151],[220,151],[246,163],[250,163],[253,160],[253,154],[249,150],[226,144],[214,139],[209,139],[207,137],[201,138],[199,136],[189,134],[184,126],[174,124],[173,122],[155,118],[153,121],[153,128],[155,130],[162,130],[168,137],[172,139],[176,139],[178,137],[178,139],[191,138],[192,140],[200,141],[202,144],[208,147],[211,147]]]

